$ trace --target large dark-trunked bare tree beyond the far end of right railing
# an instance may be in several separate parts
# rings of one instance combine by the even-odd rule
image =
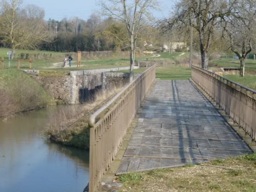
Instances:
[[[233,15],[236,0],[180,0],[175,6],[173,17],[167,20],[169,27],[175,23],[191,26],[199,34],[201,65],[208,68],[209,49],[212,35],[220,18]]]

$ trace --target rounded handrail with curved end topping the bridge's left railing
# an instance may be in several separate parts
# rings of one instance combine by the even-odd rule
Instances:
[[[154,67],[154,66],[152,66],[152,67]],[[89,117],[89,122],[88,122],[89,126],[90,126],[90,127],[94,127],[96,117],[99,116],[103,111],[105,111],[116,99],[118,99],[119,96],[121,96],[122,93],[124,93],[124,92],[127,90],[127,88],[128,88],[129,86],[131,86],[131,84],[134,83],[134,81],[137,81],[137,79],[139,79],[140,76],[142,76],[144,73],[146,73],[146,72],[147,72],[148,70],[150,70],[150,69],[151,69],[151,67],[148,68],[147,70],[145,70],[145,71],[144,71],[143,73],[141,73],[139,76],[137,76],[133,81],[131,81],[128,85],[126,85],[119,93],[117,93],[116,96],[114,96],[113,99],[111,99],[106,105],[102,106],[102,108],[100,108],[99,110],[97,110],[96,112],[94,112],[94,113]]]

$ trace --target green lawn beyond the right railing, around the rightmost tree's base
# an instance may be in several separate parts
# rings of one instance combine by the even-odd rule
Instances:
[[[239,72],[237,74],[224,74],[227,79],[235,81],[253,90],[256,90],[256,60],[247,59],[245,61],[245,76],[243,78],[239,77]],[[209,64],[209,69],[213,71],[220,71],[219,67],[240,67],[240,62],[237,59],[221,59],[212,60]]]

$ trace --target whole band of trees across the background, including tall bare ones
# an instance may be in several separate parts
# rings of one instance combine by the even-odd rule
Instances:
[[[172,14],[157,19],[158,0],[97,0],[101,15],[87,20],[77,17],[61,21],[44,20],[44,9],[21,6],[20,0],[2,0],[0,15],[1,46],[47,51],[130,51],[131,76],[137,49],[145,44],[159,47],[172,42],[189,43],[201,52],[201,67],[208,67],[213,52],[233,52],[241,62],[254,49],[256,0],[178,0]],[[12,55],[13,57],[13,55]]]

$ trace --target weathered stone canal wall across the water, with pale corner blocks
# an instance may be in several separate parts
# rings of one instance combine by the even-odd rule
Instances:
[[[117,67],[99,70],[70,71],[69,76],[51,77],[32,75],[55,99],[66,104],[78,104],[93,98],[102,89],[102,82],[106,87],[118,87],[127,84],[129,73],[112,73],[110,71],[128,70],[130,67]],[[135,67],[138,68],[138,67]],[[29,71],[25,71],[29,73]],[[39,72],[40,74],[40,72]],[[138,75],[138,74],[136,74]]]

